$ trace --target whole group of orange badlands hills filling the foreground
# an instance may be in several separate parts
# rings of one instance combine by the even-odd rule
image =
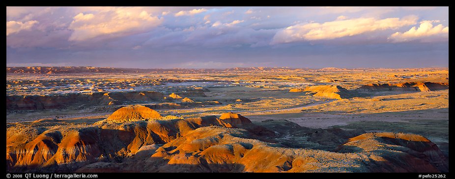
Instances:
[[[311,129],[288,121],[258,124],[236,113],[220,118],[149,120],[161,116],[127,106],[106,120],[8,124],[11,172],[448,172],[448,160],[415,134]],[[141,120],[137,120],[141,119]],[[280,128],[279,132],[272,129]],[[307,136],[286,147],[288,131]],[[283,133],[284,132],[284,133]],[[308,147],[305,147],[308,146]],[[313,146],[313,147],[310,147]],[[314,149],[314,146],[316,149]]]

